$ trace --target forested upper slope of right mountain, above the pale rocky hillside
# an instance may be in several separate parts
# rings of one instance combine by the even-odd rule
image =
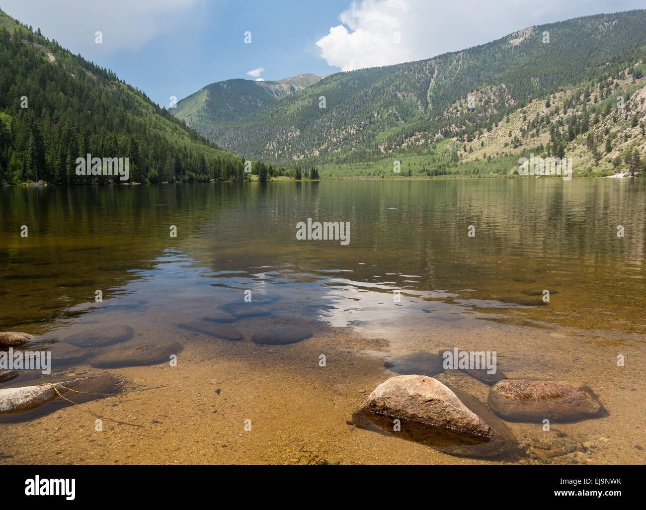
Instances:
[[[579,17],[432,59],[333,74],[243,122],[211,122],[200,132],[233,153],[279,164],[410,154],[444,138],[473,138],[583,81],[609,80],[623,64],[639,63],[645,47],[645,10]]]

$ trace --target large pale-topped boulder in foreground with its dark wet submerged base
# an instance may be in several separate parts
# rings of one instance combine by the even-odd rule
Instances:
[[[382,430],[453,455],[492,457],[516,447],[514,434],[485,406],[432,377],[391,377],[360,411]],[[401,430],[393,430],[393,420]]]

